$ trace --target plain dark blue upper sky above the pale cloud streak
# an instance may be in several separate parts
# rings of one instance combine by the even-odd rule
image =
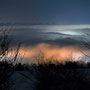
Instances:
[[[0,22],[90,24],[90,0],[0,0]]]

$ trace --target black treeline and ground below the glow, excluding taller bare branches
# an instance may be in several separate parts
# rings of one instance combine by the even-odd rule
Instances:
[[[0,62],[0,90],[90,90],[90,64],[66,62],[65,64],[22,65]],[[27,73],[26,73],[27,72]],[[29,81],[29,87],[15,86],[15,73]],[[22,86],[23,82],[19,82]],[[25,82],[24,82],[25,83]],[[24,87],[24,85],[23,85]]]

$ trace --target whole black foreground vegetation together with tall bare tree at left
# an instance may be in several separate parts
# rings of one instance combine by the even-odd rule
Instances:
[[[11,38],[7,29],[0,33],[0,90],[90,90],[90,63],[22,65],[17,59],[21,43],[7,62]]]

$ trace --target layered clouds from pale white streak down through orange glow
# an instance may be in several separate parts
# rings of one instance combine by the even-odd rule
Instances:
[[[12,46],[22,42],[19,55],[24,53],[24,62],[36,62],[35,57],[42,53],[45,60],[65,61],[72,57],[73,60],[86,62],[89,57],[84,54],[89,55],[89,49],[83,43],[90,42],[89,33],[89,25],[32,25],[13,26],[10,36]]]

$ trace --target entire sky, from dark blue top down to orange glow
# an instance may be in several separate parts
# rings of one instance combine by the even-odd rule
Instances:
[[[90,0],[0,0],[0,31],[7,25],[11,47],[23,44],[25,62],[41,52],[46,59],[90,61],[81,52],[90,55],[82,45],[90,43]]]

